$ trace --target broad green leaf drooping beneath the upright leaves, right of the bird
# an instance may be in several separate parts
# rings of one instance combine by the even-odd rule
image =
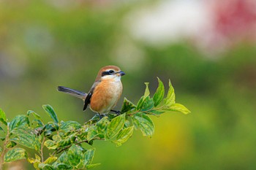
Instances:
[[[154,134],[154,123],[150,117],[143,112],[138,112],[132,117],[132,123],[135,128],[140,128],[143,136],[152,136]]]

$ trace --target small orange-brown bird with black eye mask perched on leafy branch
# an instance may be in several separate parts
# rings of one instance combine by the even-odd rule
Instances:
[[[118,66],[103,66],[99,69],[94,84],[88,93],[64,86],[58,86],[57,90],[82,99],[83,111],[89,107],[99,117],[109,112],[115,112],[119,115],[120,111],[113,110],[113,108],[116,107],[123,91],[121,77],[124,74]]]

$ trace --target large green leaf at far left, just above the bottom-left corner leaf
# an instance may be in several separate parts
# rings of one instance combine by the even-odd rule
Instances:
[[[22,144],[25,147],[37,150],[38,152],[41,149],[41,144],[39,137],[33,134],[33,131],[29,127],[20,127],[12,130],[12,142]]]

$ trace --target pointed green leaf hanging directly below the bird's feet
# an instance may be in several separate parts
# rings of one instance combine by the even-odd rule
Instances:
[[[109,139],[112,139],[118,134],[119,131],[124,127],[125,123],[125,114],[119,115],[113,120],[110,121],[107,127],[107,136]]]

